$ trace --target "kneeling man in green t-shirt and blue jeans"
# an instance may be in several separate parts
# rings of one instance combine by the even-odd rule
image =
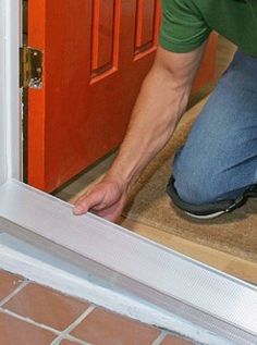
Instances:
[[[183,115],[215,29],[238,51],[176,153],[168,194],[195,217],[232,211],[257,194],[257,0],[162,0],[160,47],[110,171],[77,202],[114,221],[127,192]]]

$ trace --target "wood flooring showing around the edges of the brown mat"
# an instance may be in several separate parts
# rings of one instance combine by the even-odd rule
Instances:
[[[208,85],[206,88],[201,89],[199,93],[191,97],[188,107],[197,103],[213,89],[221,73],[231,61],[234,51],[235,47],[232,44],[230,44],[222,37],[219,39],[216,78],[213,83],[211,83],[211,85]],[[64,188],[59,190],[56,196],[62,200],[74,204],[74,201],[85,193],[85,190],[91,183],[95,183],[99,181],[99,178],[101,178],[101,176],[108,171],[114,157],[115,153],[109,155],[107,158],[96,163],[93,168],[87,169],[83,174],[68,184]],[[255,263],[252,261],[243,260],[232,255],[195,244],[193,242],[170,235],[158,229],[154,229],[151,226],[147,226],[145,224],[137,223],[128,219],[121,218],[119,223],[122,226],[134,231],[144,237],[147,237],[158,244],[180,251],[183,255],[186,255],[195,260],[204,262],[246,282],[257,284],[257,262]]]

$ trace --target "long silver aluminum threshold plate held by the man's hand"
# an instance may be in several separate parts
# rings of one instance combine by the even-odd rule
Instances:
[[[257,288],[15,180],[0,186],[4,231],[99,282],[238,345],[257,344]]]

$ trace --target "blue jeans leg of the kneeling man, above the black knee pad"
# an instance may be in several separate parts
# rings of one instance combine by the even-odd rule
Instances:
[[[235,53],[176,152],[173,176],[194,205],[236,198],[257,183],[257,58]]]

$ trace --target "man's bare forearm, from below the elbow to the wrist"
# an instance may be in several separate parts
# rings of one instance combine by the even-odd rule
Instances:
[[[146,77],[125,139],[108,172],[130,186],[164,147],[187,104],[191,83],[178,83],[166,69],[154,66]]]

